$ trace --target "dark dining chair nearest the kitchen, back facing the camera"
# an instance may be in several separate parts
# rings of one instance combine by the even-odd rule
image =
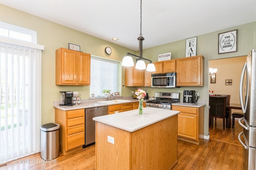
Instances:
[[[224,96],[209,96],[209,126],[213,123],[213,118],[223,119],[223,130],[228,125],[228,113],[226,112],[227,98]],[[216,122],[216,120],[215,120]]]

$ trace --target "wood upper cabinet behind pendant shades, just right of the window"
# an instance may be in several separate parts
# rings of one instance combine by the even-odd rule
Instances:
[[[135,69],[135,66],[125,68],[125,86],[144,86],[145,70]]]

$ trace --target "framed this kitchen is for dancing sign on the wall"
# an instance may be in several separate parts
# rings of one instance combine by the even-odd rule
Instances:
[[[218,54],[237,51],[237,29],[218,34]]]

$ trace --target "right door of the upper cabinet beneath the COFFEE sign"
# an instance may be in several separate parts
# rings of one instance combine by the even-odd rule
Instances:
[[[90,85],[91,55],[78,52],[78,84]]]

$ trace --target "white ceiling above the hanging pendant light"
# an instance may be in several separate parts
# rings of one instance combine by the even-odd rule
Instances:
[[[138,51],[140,0],[0,3]],[[256,0],[143,0],[143,49],[252,21],[256,21]],[[113,41],[113,37],[119,40]]]

